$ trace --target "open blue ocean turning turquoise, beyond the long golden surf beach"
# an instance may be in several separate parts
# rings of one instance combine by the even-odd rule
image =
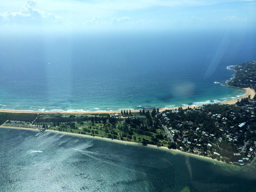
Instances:
[[[214,84],[255,60],[252,32],[4,35],[0,108],[104,111],[214,103],[244,94]]]

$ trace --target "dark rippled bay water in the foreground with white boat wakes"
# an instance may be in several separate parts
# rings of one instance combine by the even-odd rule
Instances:
[[[0,129],[0,191],[255,191],[255,167],[109,141]],[[243,170],[243,169],[241,169]]]

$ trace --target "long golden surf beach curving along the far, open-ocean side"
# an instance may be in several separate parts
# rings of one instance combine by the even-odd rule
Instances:
[[[227,100],[227,101],[221,101],[221,102],[217,102],[217,103],[212,103],[212,104],[227,104],[227,105],[231,105],[231,104],[235,104],[237,102],[237,100],[241,100],[243,98],[247,98],[249,95],[251,95],[251,98],[253,98],[255,96],[255,91],[251,88],[241,88],[244,89],[246,92],[244,95],[242,95],[241,97],[238,97],[236,99],[232,99],[232,100]],[[203,105],[203,104],[202,104]],[[191,105],[191,106],[182,106],[182,108],[197,108],[200,107],[202,105]],[[178,106],[180,107],[180,106]],[[171,109],[175,109],[178,107],[172,107],[172,108],[159,108],[159,112],[165,111],[165,110],[171,110]],[[149,111],[152,111],[152,109],[148,109]],[[37,113],[37,114],[103,114],[103,113],[109,113],[109,114],[115,114],[115,113],[120,113],[120,111],[89,111],[89,112],[74,112],[74,111],[54,111],[54,112],[49,112],[49,111],[27,111],[27,110],[12,110],[12,109],[0,109],[0,112],[4,112],[4,113]],[[140,112],[140,110],[131,110],[132,113],[135,112]]]

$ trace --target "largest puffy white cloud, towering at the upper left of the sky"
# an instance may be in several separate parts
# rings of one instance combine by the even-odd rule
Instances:
[[[28,1],[19,12],[5,12],[0,14],[0,19],[3,23],[9,24],[43,24],[55,23],[59,18],[51,13],[47,13],[37,9],[36,2]]]

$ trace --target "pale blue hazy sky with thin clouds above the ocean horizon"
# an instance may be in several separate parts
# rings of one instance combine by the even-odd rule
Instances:
[[[0,0],[0,27],[209,29],[256,25],[256,0]]]

